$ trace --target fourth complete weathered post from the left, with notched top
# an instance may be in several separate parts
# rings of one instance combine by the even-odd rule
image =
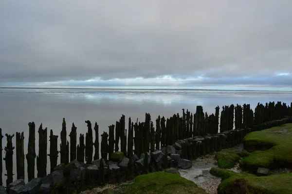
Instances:
[[[38,128],[38,156],[37,156],[37,177],[47,175],[47,128],[42,129],[42,124]]]

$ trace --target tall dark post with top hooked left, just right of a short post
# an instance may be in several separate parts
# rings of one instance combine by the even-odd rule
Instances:
[[[92,161],[93,155],[93,135],[92,135],[92,128],[91,122],[89,120],[85,121],[87,123],[88,132],[85,135],[85,161],[89,164]]]

